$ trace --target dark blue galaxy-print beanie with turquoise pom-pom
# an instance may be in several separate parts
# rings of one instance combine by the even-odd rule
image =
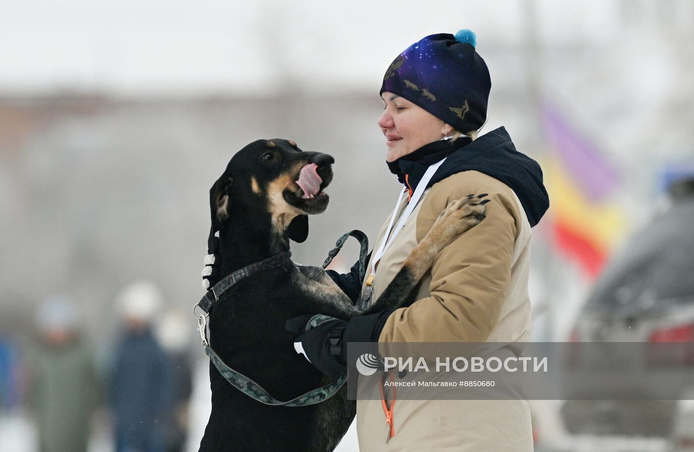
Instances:
[[[486,121],[491,79],[475,51],[475,33],[461,30],[423,37],[393,60],[380,94],[397,94],[467,133]]]

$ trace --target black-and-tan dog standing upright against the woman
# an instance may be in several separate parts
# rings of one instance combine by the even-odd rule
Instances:
[[[219,232],[219,278],[288,251],[290,238],[307,238],[307,215],[328,207],[323,190],[333,162],[283,139],[254,141],[232,157],[210,189],[210,246]],[[482,218],[484,205],[454,202],[370,311],[403,305],[438,250]],[[285,330],[288,319],[316,313],[348,320],[357,309],[321,268],[288,261],[245,277],[219,297],[210,310],[210,347],[276,399],[294,399],[328,383],[294,352],[294,336]],[[212,364],[210,382],[212,413],[201,452],[332,451],[355,415],[345,388],[321,403],[289,408],[251,399]]]

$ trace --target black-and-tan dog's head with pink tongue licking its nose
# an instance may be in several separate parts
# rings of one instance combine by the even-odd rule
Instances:
[[[294,141],[253,141],[210,189],[210,241],[237,211],[269,214],[277,234],[305,241],[307,215],[321,214],[330,202],[323,190],[332,181],[334,162],[328,154],[302,152]]]

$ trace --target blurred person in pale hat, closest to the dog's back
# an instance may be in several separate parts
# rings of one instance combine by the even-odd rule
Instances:
[[[189,328],[187,316],[171,310],[162,315],[156,329],[156,336],[171,361],[171,399],[167,403],[167,417],[162,421],[166,452],[183,451],[187,438],[189,400],[193,390]]]

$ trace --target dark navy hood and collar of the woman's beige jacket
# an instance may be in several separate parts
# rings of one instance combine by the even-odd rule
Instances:
[[[480,171],[507,184],[521,200],[525,215],[533,227],[550,207],[550,197],[542,183],[542,169],[533,159],[516,150],[505,128],[482,135],[475,141],[461,137],[450,141],[434,141],[395,162],[389,162],[409,189],[416,189],[427,168],[448,156],[427,186],[462,171]]]

